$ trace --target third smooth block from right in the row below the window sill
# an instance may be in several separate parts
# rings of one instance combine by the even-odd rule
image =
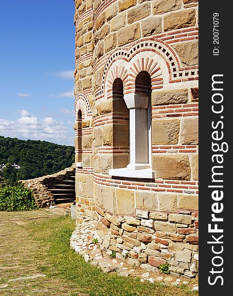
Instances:
[[[156,193],[136,191],[136,208],[142,210],[157,211],[158,204]]]

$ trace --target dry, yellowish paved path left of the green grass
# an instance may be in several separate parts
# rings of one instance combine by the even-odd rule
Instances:
[[[79,296],[65,280],[48,278],[39,265],[48,266],[47,246],[25,229],[32,220],[64,215],[62,209],[0,212],[0,296]]]

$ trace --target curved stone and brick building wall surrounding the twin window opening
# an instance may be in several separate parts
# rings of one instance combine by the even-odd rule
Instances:
[[[95,217],[103,248],[132,265],[198,269],[198,1],[75,0],[77,222]],[[151,77],[154,179],[116,178],[128,115],[113,84]],[[117,107],[118,106],[118,107]],[[81,111],[81,118],[78,118]],[[80,124],[81,122],[81,124]],[[116,144],[116,138],[121,139]],[[120,143],[119,143],[120,142]],[[127,255],[125,255],[127,254]],[[150,267],[151,266],[151,267]]]

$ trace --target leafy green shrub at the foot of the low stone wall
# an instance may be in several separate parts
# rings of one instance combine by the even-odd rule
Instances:
[[[38,209],[31,189],[22,185],[0,187],[0,211],[30,211]]]

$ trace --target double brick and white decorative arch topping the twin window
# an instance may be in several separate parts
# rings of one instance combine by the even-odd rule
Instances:
[[[163,60],[162,63],[158,63],[158,59]],[[159,69],[161,64],[166,66]],[[138,40],[128,49],[117,49],[109,57],[103,72],[101,89],[96,96],[105,93],[110,98],[111,86],[116,78],[124,82],[124,93],[133,91],[135,77],[140,71],[147,71],[151,75],[152,89],[162,88],[164,68],[168,71],[168,83],[198,79],[198,66],[181,67],[178,55],[163,40],[155,37]]]

